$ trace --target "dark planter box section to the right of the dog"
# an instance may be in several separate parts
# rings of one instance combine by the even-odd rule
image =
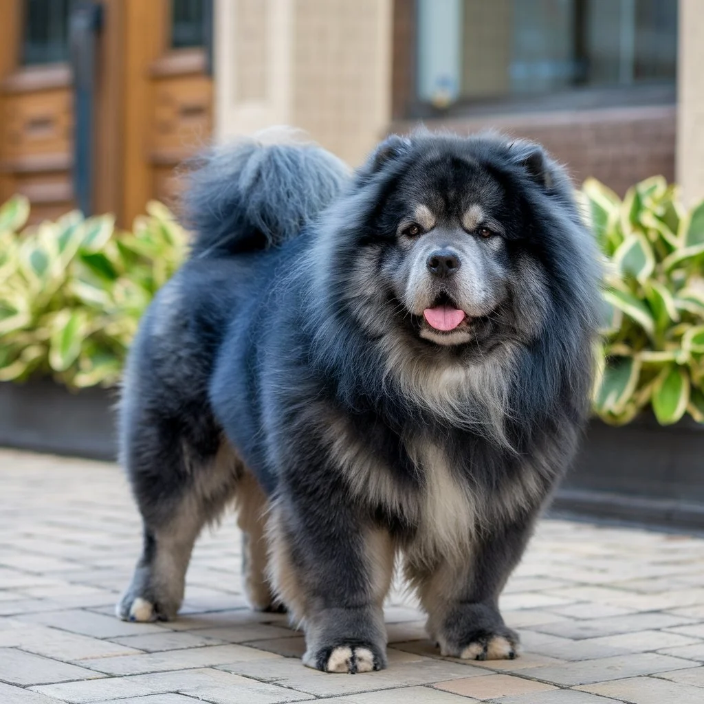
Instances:
[[[592,420],[551,510],[704,529],[704,425]]]

